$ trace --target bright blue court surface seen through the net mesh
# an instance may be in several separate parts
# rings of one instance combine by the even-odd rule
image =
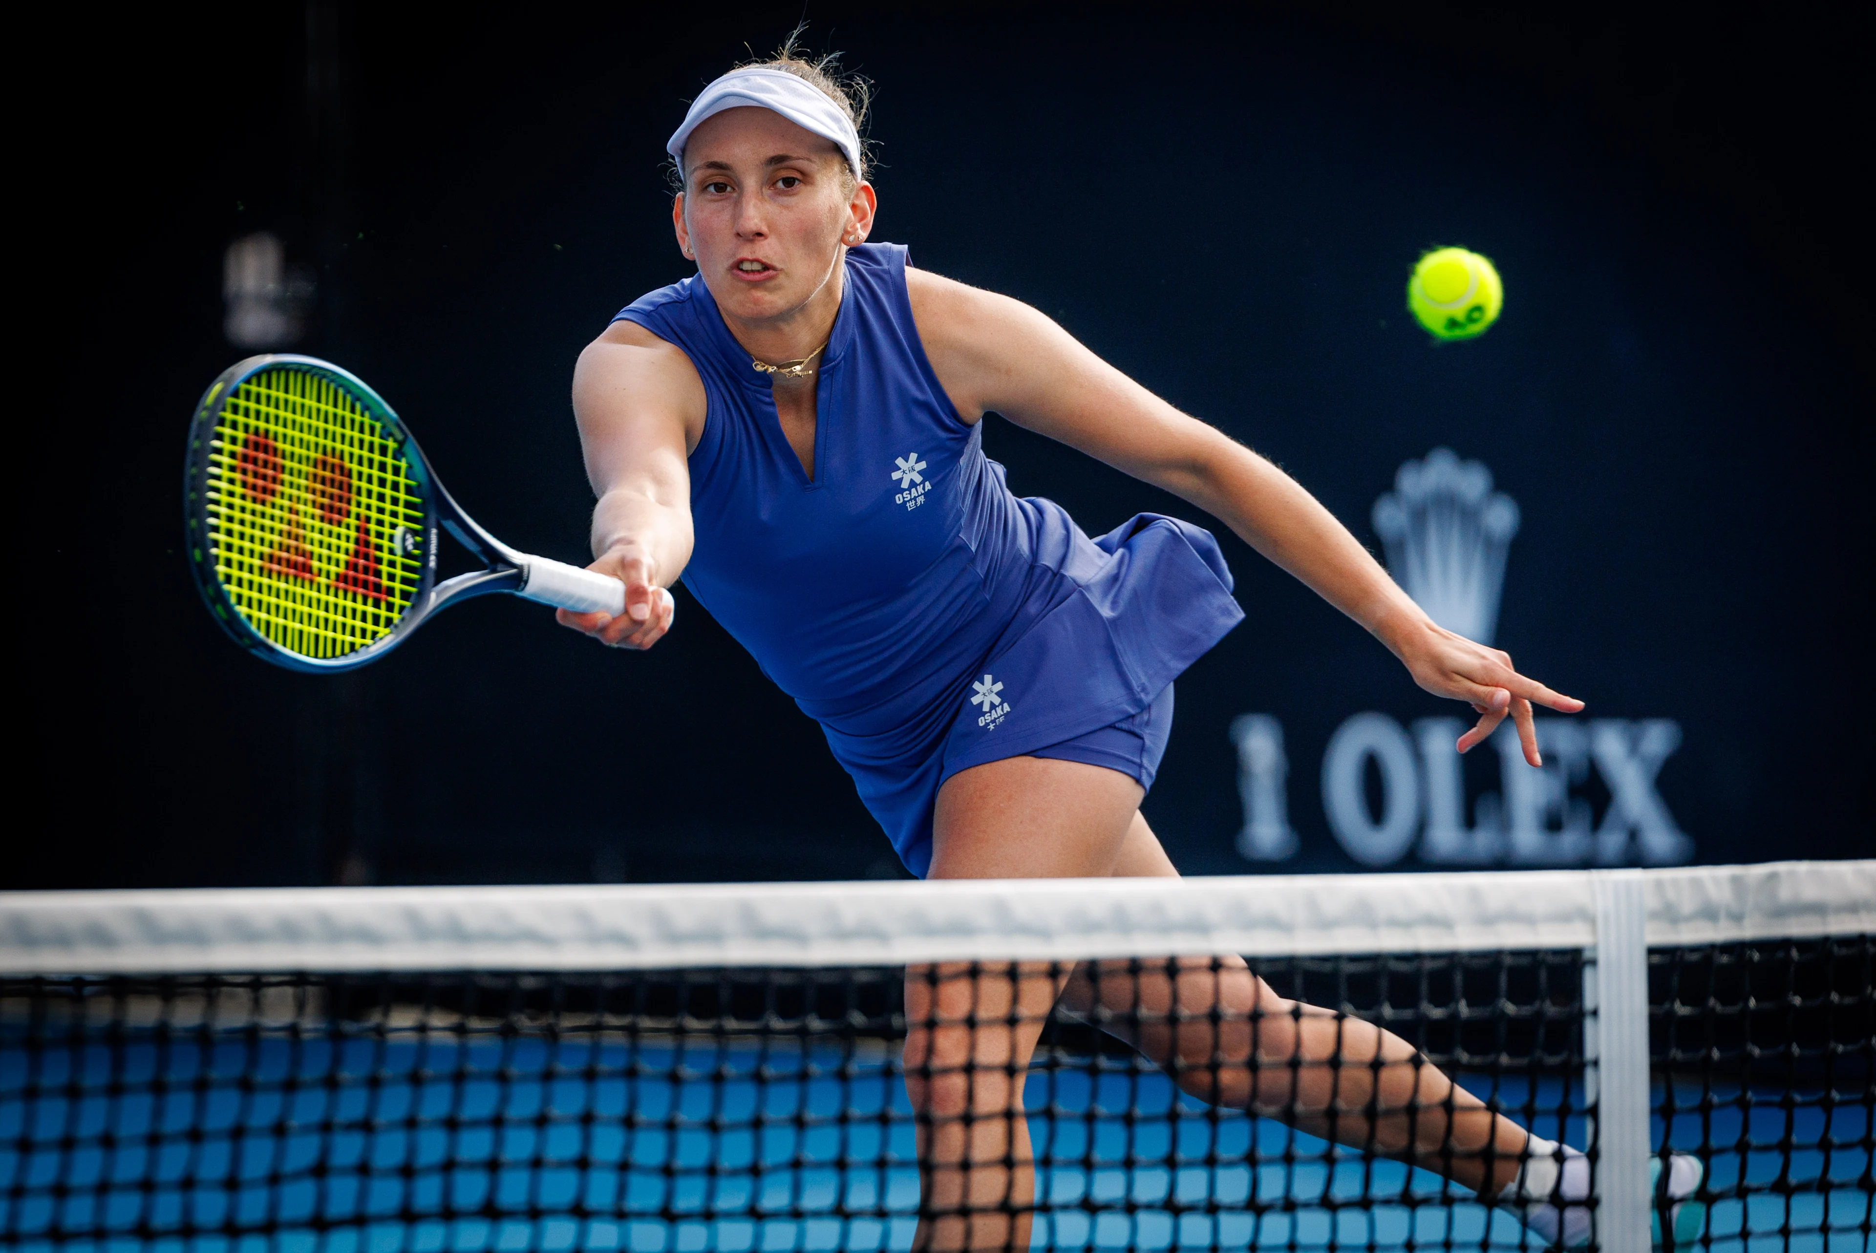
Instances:
[[[792,1037],[448,1030],[39,1034],[0,1052],[0,1230],[21,1249],[908,1247],[912,1110],[897,1049]],[[1476,1084],[1475,1084],[1476,1086]],[[1583,1144],[1580,1080],[1499,1079]],[[1750,1103],[1741,1101],[1750,1095]],[[1051,1056],[1032,1073],[1034,1247],[1520,1247],[1437,1174],[1216,1112],[1157,1071]],[[1677,1092],[1677,1105],[1698,1092]],[[1655,1125],[1657,1144],[1660,1120]],[[1709,1092],[1713,1249],[1861,1253],[1870,1109]],[[1831,1148],[1837,1146],[1837,1148]],[[1741,1184],[1756,1185],[1747,1199]],[[1741,1232],[1750,1232],[1743,1238]]]

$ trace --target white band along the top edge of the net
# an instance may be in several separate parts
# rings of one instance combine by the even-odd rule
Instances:
[[[649,970],[1465,953],[1876,932],[1876,861],[1191,880],[0,893],[4,974]]]

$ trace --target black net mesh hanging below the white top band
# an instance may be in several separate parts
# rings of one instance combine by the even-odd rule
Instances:
[[[1583,968],[1259,960],[1285,1000],[1249,1013],[1218,994],[1240,966],[1165,959],[11,979],[0,1236],[767,1253],[906,1249],[923,1217],[936,1245],[1542,1247],[1452,1182],[1501,1152],[1441,1131],[1463,1094],[1416,1084],[1593,1163]],[[1867,938],[1651,955],[1657,1148],[1707,1163],[1694,1247],[1868,1247],[1872,974]],[[1407,1056],[1278,1047],[1360,1022]],[[1026,1073],[994,1043],[1022,1032]]]

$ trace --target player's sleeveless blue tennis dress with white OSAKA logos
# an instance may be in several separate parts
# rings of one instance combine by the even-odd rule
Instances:
[[[1011,495],[925,358],[906,264],[897,244],[848,251],[812,480],[702,278],[619,317],[683,349],[709,398],[685,585],[822,724],[923,878],[961,769],[1058,756],[1150,786],[1172,679],[1244,611],[1208,531],[1141,514],[1090,540]]]

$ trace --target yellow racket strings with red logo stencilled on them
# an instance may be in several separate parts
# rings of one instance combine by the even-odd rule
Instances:
[[[345,388],[263,370],[208,450],[216,578],[266,640],[311,658],[383,640],[422,578],[424,501],[400,445]]]

